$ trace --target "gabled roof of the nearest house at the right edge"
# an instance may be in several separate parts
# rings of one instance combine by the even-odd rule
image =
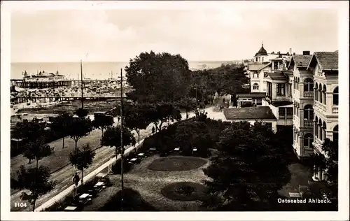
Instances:
[[[314,66],[317,62],[322,70],[337,71],[338,57],[339,53],[337,50],[335,52],[314,52],[307,68],[309,69],[310,66]]]

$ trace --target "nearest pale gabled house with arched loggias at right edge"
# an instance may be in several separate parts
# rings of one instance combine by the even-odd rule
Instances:
[[[338,57],[335,52],[314,52],[307,70],[314,77],[314,157],[325,155],[322,150],[325,138],[338,141]],[[328,157],[325,155],[325,157]],[[325,180],[325,171],[315,165],[314,180]]]

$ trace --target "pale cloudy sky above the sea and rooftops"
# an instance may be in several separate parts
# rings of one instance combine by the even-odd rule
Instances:
[[[128,62],[144,51],[188,61],[338,49],[334,9],[16,10],[11,62]]]

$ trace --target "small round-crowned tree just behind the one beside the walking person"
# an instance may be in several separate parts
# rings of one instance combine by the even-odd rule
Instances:
[[[76,143],[76,151],[80,138],[87,136],[87,134],[92,131],[92,122],[89,117],[71,117],[71,122],[69,122],[69,125],[70,127],[67,129],[67,133]]]

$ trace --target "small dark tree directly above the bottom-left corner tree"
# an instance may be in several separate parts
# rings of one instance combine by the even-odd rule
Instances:
[[[38,168],[38,161],[43,159],[43,157],[51,155],[52,150],[53,148],[50,148],[50,145],[45,143],[45,138],[41,136],[36,138],[35,141],[29,141],[26,144],[24,156],[29,159],[29,164],[31,163],[31,159],[36,159],[36,168]]]

